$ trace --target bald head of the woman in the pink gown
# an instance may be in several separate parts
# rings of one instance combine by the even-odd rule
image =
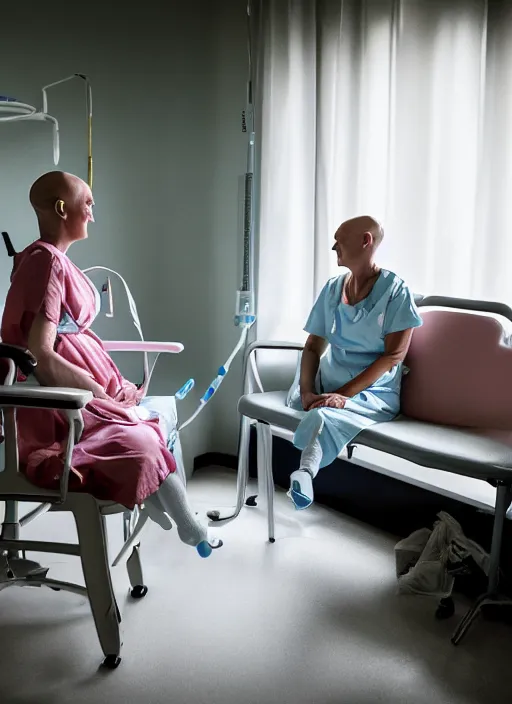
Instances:
[[[93,221],[93,199],[91,189],[81,178],[50,171],[35,181],[29,198],[42,239],[67,248],[87,237],[87,223]]]

